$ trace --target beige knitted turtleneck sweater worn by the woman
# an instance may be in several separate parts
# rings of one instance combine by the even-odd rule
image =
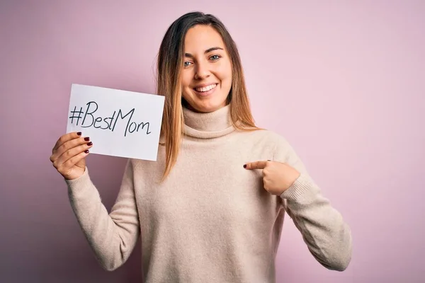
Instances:
[[[179,157],[166,180],[160,183],[164,146],[157,161],[130,158],[111,212],[88,168],[66,181],[74,214],[104,269],[123,265],[141,236],[143,282],[276,282],[285,212],[320,264],[348,266],[351,231],[286,139],[266,129],[235,129],[229,105],[210,113],[183,108],[183,117]],[[300,172],[280,196],[264,189],[261,170],[243,167],[266,160]]]

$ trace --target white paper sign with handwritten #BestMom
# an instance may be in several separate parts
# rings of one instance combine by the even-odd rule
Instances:
[[[67,132],[82,132],[90,152],[156,161],[164,96],[72,84]]]

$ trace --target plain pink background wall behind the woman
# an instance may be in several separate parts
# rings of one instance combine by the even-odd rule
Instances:
[[[425,1],[277,2],[1,1],[1,282],[141,281],[140,243],[101,270],[49,156],[71,83],[153,92],[162,36],[194,10],[227,25],[256,121],[353,231],[351,265],[331,272],[288,219],[278,282],[424,282]],[[125,159],[88,163],[110,209]]]

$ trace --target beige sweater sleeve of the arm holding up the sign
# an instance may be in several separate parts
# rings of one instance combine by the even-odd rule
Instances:
[[[87,168],[81,177],[66,180],[74,214],[96,259],[105,270],[112,271],[123,265],[140,236],[132,175],[130,159],[110,214],[102,204]]]

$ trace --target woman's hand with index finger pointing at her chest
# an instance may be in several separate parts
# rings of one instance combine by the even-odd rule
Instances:
[[[300,173],[286,163],[256,161],[246,163],[247,170],[262,169],[264,188],[272,195],[282,195],[300,177]]]

